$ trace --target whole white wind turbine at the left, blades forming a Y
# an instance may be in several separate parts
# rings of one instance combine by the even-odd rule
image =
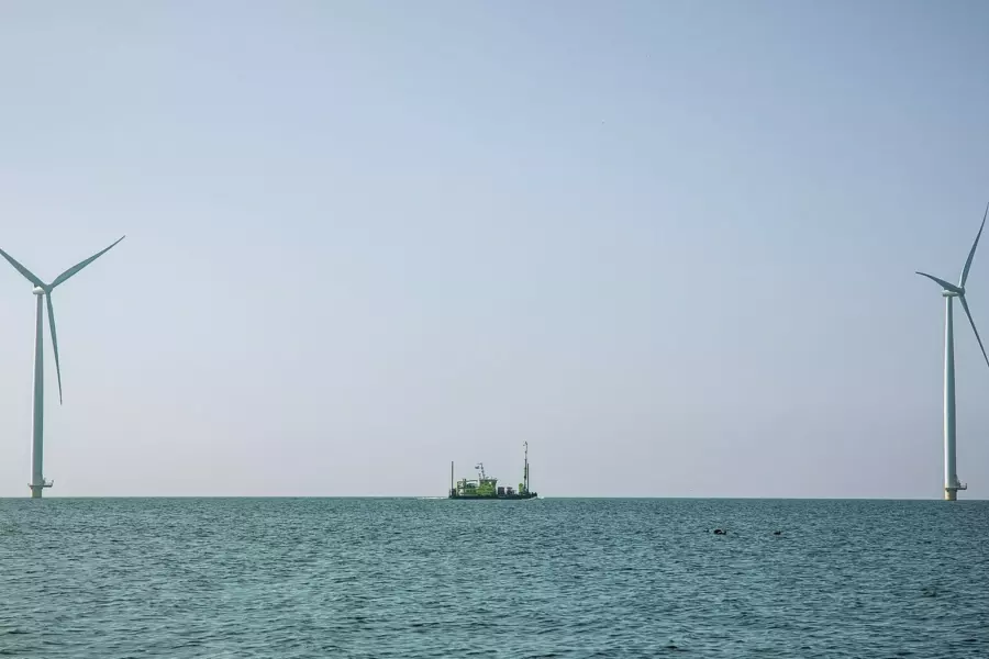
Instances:
[[[120,243],[125,236],[118,238],[113,245]],[[113,247],[110,245],[110,247]],[[67,279],[76,275],[79,270],[101,257],[110,250],[110,247],[98,252],[86,260],[73,266],[58,277],[52,283],[45,283],[38,279],[31,270],[19,264],[12,256],[0,249],[0,256],[3,256],[18,272],[23,275],[27,281],[34,284],[34,294],[37,295],[37,313],[34,326],[34,423],[32,427],[31,444],[31,498],[41,499],[42,490],[51,488],[52,482],[45,481],[42,470],[42,460],[44,457],[44,422],[45,422],[45,364],[44,364],[44,305],[42,298],[45,299],[48,306],[48,327],[52,331],[52,348],[55,350],[55,373],[58,376],[58,404],[62,404],[62,367],[58,365],[58,339],[55,337],[55,309],[52,306],[52,291]]]

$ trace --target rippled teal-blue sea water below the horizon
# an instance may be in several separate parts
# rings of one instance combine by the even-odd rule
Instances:
[[[989,657],[987,538],[967,501],[3,500],[0,655]]]

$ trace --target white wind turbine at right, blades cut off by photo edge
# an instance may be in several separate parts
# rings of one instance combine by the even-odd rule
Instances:
[[[968,485],[963,484],[958,480],[958,472],[955,468],[955,330],[952,319],[952,303],[955,298],[962,303],[965,315],[971,324],[971,331],[975,332],[979,347],[982,349],[982,357],[989,365],[989,356],[986,355],[986,347],[982,345],[982,338],[979,331],[976,330],[975,321],[971,320],[971,311],[968,309],[968,302],[965,300],[965,282],[968,280],[968,271],[971,269],[971,259],[975,257],[976,247],[979,246],[979,238],[982,236],[982,230],[986,227],[986,216],[989,215],[989,205],[982,213],[982,224],[979,226],[979,233],[976,234],[975,243],[968,253],[968,260],[962,269],[962,278],[958,286],[938,279],[926,272],[918,272],[921,277],[934,281],[941,286],[941,294],[944,297],[944,500],[955,501],[958,498],[958,490],[967,490]]]

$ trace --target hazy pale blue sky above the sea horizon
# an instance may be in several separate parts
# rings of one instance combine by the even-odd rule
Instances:
[[[938,499],[978,0],[0,4],[46,496]],[[989,246],[968,300],[989,335]],[[34,298],[0,261],[0,496]],[[989,367],[957,314],[958,471]],[[989,338],[989,336],[987,336]]]

